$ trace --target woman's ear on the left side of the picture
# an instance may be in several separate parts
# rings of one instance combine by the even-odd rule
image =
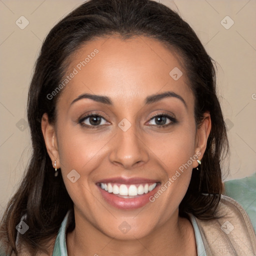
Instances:
[[[42,129],[45,146],[47,148],[47,152],[51,159],[52,165],[56,161],[56,168],[59,168],[59,154],[58,154],[55,128],[54,128],[54,125],[49,123],[49,118],[47,113],[44,113],[42,115],[41,129]]]

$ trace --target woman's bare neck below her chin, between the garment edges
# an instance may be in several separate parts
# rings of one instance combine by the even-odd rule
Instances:
[[[89,230],[89,231],[88,231]],[[197,255],[192,224],[176,214],[150,234],[137,239],[121,240],[109,237],[90,222],[75,218],[75,228],[66,237],[68,256],[110,256],[121,252],[124,256]]]

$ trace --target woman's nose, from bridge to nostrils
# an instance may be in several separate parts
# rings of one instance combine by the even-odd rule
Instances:
[[[141,133],[131,125],[126,131],[117,127],[117,134],[112,142],[109,160],[125,169],[140,166],[149,159],[148,148]]]

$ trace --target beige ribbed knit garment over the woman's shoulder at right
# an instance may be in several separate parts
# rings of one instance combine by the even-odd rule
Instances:
[[[256,252],[256,236],[248,214],[234,199],[221,195],[216,216],[210,220],[196,218],[196,222],[207,255],[250,256]]]

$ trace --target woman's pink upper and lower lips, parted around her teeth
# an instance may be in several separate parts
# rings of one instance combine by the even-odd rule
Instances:
[[[113,193],[108,193],[104,189],[102,189],[99,183],[121,183],[121,184],[138,184],[138,183],[156,183],[156,186],[153,190],[148,193],[144,193],[141,195],[132,196],[131,198],[123,198],[120,195],[115,195]],[[159,180],[147,179],[147,178],[107,178],[102,179],[96,182],[96,186],[99,189],[99,192],[102,198],[109,203],[111,206],[122,210],[132,210],[136,208],[140,208],[147,204],[149,201],[149,197],[152,196],[155,191],[160,186]]]

